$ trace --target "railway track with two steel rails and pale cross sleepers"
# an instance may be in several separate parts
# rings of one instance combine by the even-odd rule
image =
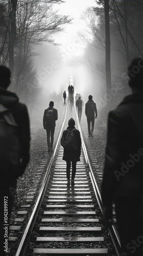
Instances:
[[[74,109],[68,110],[62,131],[71,116],[77,117]],[[98,189],[91,177],[84,141],[75,185],[66,185],[66,163],[60,145],[62,131],[15,255],[119,255],[102,221]]]

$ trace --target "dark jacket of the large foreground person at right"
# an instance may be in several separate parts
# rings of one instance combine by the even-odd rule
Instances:
[[[143,189],[143,94],[127,96],[108,116],[103,204],[136,197]]]

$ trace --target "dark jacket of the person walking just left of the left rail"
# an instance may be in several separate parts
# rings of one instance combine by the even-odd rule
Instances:
[[[47,120],[46,118],[46,112],[47,110],[53,110],[53,118]],[[47,127],[53,127],[56,126],[56,120],[58,119],[58,111],[56,109],[54,109],[52,106],[49,106],[49,108],[47,108],[44,111],[44,115],[43,115],[43,127],[44,129],[46,129]]]

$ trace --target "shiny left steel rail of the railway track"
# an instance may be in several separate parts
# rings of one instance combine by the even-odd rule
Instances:
[[[63,126],[64,126],[64,123],[65,123],[65,120],[66,120],[66,114],[67,114],[67,106],[66,106],[65,118],[64,118],[64,121],[62,123],[61,131],[60,131],[57,143],[56,143],[55,150],[53,152],[53,155],[52,155],[52,158],[50,160],[49,166],[47,167],[47,170],[46,170],[46,173],[45,173],[45,176],[44,176],[44,180],[43,180],[41,189],[39,191],[39,195],[37,197],[36,203],[34,205],[32,214],[31,214],[30,219],[28,221],[28,224],[25,228],[25,231],[23,232],[23,236],[21,238],[21,241],[19,243],[19,246],[17,248],[15,256],[24,256],[25,255],[25,252],[26,252],[26,249],[27,249],[27,244],[29,242],[30,235],[32,233],[32,229],[33,229],[33,226],[35,224],[35,221],[36,221],[36,218],[37,218],[37,215],[38,215],[38,211],[39,211],[40,205],[42,203],[42,200],[43,200],[43,197],[44,197],[44,194],[45,194],[46,186],[47,186],[47,183],[49,182],[50,169],[51,169],[51,166],[53,164],[53,161],[54,161],[54,158],[55,158],[55,155],[56,155],[56,152],[57,152],[58,144],[59,144],[61,134],[62,134],[62,131],[63,131]]]

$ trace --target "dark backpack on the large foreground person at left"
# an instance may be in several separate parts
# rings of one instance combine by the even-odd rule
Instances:
[[[0,164],[1,175],[14,178],[20,164],[20,145],[15,120],[4,105],[0,104]]]

